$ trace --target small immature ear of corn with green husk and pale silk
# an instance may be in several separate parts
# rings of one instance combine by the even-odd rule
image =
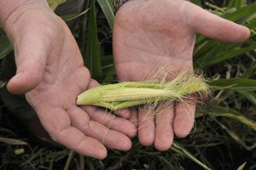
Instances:
[[[116,111],[135,105],[170,104],[189,98],[189,94],[204,96],[208,92],[209,86],[202,76],[185,71],[171,82],[120,82],[90,88],[79,94],[77,105],[97,105]]]

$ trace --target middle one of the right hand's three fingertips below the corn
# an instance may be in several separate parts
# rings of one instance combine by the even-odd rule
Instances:
[[[174,107],[167,108],[158,113],[155,117],[155,139],[154,147],[157,150],[168,150],[173,142],[172,122],[174,117]]]

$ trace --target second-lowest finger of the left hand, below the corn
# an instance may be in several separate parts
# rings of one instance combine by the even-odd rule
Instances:
[[[71,119],[72,126],[77,127],[84,132],[86,136],[97,139],[110,149],[131,149],[131,140],[125,134],[110,130],[108,127],[104,127],[98,122],[88,120],[87,113],[79,107],[70,108],[67,110],[67,113]]]

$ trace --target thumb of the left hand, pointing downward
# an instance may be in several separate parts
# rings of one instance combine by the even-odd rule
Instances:
[[[43,79],[49,42],[39,33],[31,31],[17,38],[13,37],[13,42],[17,71],[15,77],[8,82],[7,88],[12,94],[24,94],[36,88]]]

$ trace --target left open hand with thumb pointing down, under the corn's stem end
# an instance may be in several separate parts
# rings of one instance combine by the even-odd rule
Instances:
[[[128,136],[136,135],[131,122],[97,107],[76,105],[80,93],[98,84],[90,79],[65,22],[46,1],[24,2],[2,20],[17,66],[7,85],[9,92],[26,93],[51,138],[71,150],[99,159],[107,155],[102,142],[108,148],[129,150]]]

